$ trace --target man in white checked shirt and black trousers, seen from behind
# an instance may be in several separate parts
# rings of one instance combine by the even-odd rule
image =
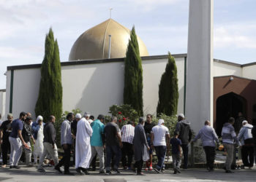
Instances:
[[[131,170],[132,164],[132,142],[135,135],[135,127],[132,126],[132,122],[129,121],[121,128],[121,141],[123,143],[123,148],[121,149],[121,161],[124,169]],[[127,162],[128,157],[128,162]]]

